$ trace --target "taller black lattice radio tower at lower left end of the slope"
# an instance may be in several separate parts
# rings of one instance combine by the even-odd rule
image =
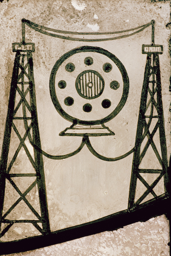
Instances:
[[[25,24],[22,23],[22,43],[13,44],[13,52],[16,52],[16,56],[0,162],[0,237],[9,232],[13,225],[17,225],[18,228],[22,223],[27,223],[24,228],[25,231],[28,230],[28,225],[34,225],[31,226],[31,230],[36,231],[32,235],[36,234],[37,231],[39,231],[38,234],[48,234],[50,232],[43,158],[40,153],[33,151],[33,148],[32,154],[29,151],[31,146],[29,142],[33,142],[39,148],[41,148],[41,143],[32,61],[32,52],[35,51],[35,45],[34,43],[25,43],[24,26]],[[22,135],[20,131],[25,132]],[[17,147],[13,142],[12,134],[17,135],[16,137],[19,139]],[[10,148],[13,151],[11,153],[12,159],[9,157]],[[24,155],[26,158],[26,161],[22,163],[22,169],[12,168],[18,165],[18,155]],[[28,184],[24,190],[18,186],[21,180],[23,185]],[[10,199],[8,196],[4,200],[5,185],[10,186],[13,193]],[[33,203],[34,200],[31,200],[32,198],[30,199],[29,195],[31,191],[34,191],[36,201],[36,189],[39,209],[36,208]],[[9,205],[8,201],[13,199],[13,194],[17,194],[17,200],[15,199]],[[25,205],[25,211],[22,207],[19,207],[21,203],[22,206]],[[28,213],[28,211],[30,212]],[[30,236],[29,232],[24,233],[22,238]]]

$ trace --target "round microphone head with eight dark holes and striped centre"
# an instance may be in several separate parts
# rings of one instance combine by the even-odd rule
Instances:
[[[104,59],[104,63],[100,59]],[[82,68],[86,65],[86,70],[81,70],[81,65]],[[60,75],[61,71],[63,75]],[[64,119],[74,124],[98,125],[110,121],[123,108],[128,92],[129,78],[125,67],[114,54],[100,47],[72,49],[57,60],[51,71],[50,94],[54,107]]]

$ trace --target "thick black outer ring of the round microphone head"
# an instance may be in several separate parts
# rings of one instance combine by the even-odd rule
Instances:
[[[106,116],[103,119],[99,119],[99,120],[92,120],[92,121],[84,121],[84,120],[80,120],[77,118],[74,118],[71,115],[68,115],[63,108],[61,107],[57,96],[56,96],[56,90],[55,90],[55,76],[56,76],[56,72],[58,70],[58,68],[61,66],[61,64],[70,56],[76,54],[76,53],[80,53],[80,52],[95,52],[95,53],[99,53],[99,54],[103,54],[105,56],[107,56],[108,58],[110,58],[115,64],[116,66],[119,68],[120,73],[122,75],[122,79],[123,79],[123,93],[122,93],[122,97],[121,100],[119,102],[119,104],[117,105],[117,107],[113,110],[113,112],[111,112],[108,116]],[[59,58],[57,60],[57,62],[55,63],[55,65],[52,68],[51,71],[51,75],[50,75],[50,82],[49,82],[49,87],[50,87],[50,95],[51,95],[51,99],[52,102],[54,104],[55,109],[57,110],[57,112],[66,120],[73,122],[74,124],[81,124],[81,125],[95,125],[95,124],[103,124],[106,123],[108,121],[110,121],[111,119],[113,119],[123,108],[124,104],[126,103],[126,100],[128,98],[128,92],[129,92],[129,78],[128,78],[128,74],[127,71],[125,69],[125,67],[123,66],[123,64],[120,62],[120,60],[112,53],[108,52],[107,50],[101,48],[101,47],[94,47],[94,46],[81,46],[79,48],[75,48],[72,49],[71,51],[65,53],[64,55],[61,56],[61,58]]]

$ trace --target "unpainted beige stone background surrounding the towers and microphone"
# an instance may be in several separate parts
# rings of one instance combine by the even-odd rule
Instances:
[[[165,118],[168,158],[171,152],[170,143],[170,31],[166,24],[170,22],[169,1],[149,0],[93,0],[93,1],[60,1],[60,0],[9,0],[0,3],[0,142],[2,145],[4,124],[8,106],[10,83],[15,54],[12,43],[21,42],[21,19],[25,18],[37,24],[59,30],[78,32],[106,32],[126,30],[140,26],[152,19],[155,24],[155,43],[163,45],[160,56],[162,100]],[[132,37],[121,40],[83,43],[47,37],[26,26],[26,42],[35,43],[33,53],[34,78],[38,109],[39,129],[42,149],[49,154],[67,154],[74,151],[81,143],[80,137],[59,137],[58,134],[71,125],[55,110],[49,93],[49,77],[56,60],[64,53],[82,45],[92,45],[107,49],[115,54],[124,64],[129,80],[130,90],[126,105],[122,111],[106,125],[115,132],[115,136],[92,137],[95,150],[107,157],[115,157],[128,152],[135,143],[136,125],[139,113],[140,97],[144,77],[146,55],[141,54],[142,44],[151,43],[151,27]],[[103,63],[103,58],[99,58]],[[80,65],[80,64],[78,64]],[[68,92],[69,93],[69,92]],[[19,128],[20,127],[20,128]],[[18,122],[21,134],[23,126]],[[13,156],[19,140],[12,134],[12,145],[9,156]],[[156,142],[159,143],[159,142]],[[29,147],[29,142],[26,141]],[[0,146],[1,148],[1,146]],[[29,148],[32,154],[32,148]],[[158,168],[150,153],[142,168]],[[131,177],[132,155],[117,162],[104,162],[95,158],[86,147],[72,158],[50,160],[43,158],[51,230],[55,231],[68,226],[92,221],[117,211],[127,209]],[[23,164],[24,163],[24,164]],[[149,167],[150,165],[150,167]],[[15,170],[30,170],[26,154],[21,151],[13,166]],[[148,183],[152,178],[145,177]],[[112,181],[112,182],[111,182]],[[29,179],[18,179],[18,187],[25,191],[32,182]],[[6,184],[5,205],[7,210],[12,201],[19,196]],[[139,198],[143,187],[136,191]],[[156,193],[163,192],[163,182],[156,188]],[[10,200],[9,200],[10,199]],[[34,188],[27,199],[38,209],[38,192]],[[148,200],[150,198],[147,198]],[[11,218],[32,218],[24,205],[18,205],[11,213]],[[169,255],[168,223],[165,216],[157,217],[146,223],[135,223],[114,232],[84,237],[75,241],[38,249],[33,252],[15,255]],[[14,225],[2,238],[2,241],[20,239],[38,235],[30,224]]]

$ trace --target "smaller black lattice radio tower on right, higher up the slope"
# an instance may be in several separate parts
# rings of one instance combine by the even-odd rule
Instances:
[[[169,193],[168,159],[161,98],[161,80],[159,66],[159,54],[162,54],[163,47],[162,45],[154,44],[155,21],[153,20],[151,24],[152,45],[142,46],[142,53],[147,54],[147,60],[144,73],[139,119],[135,139],[135,151],[132,163],[132,175],[128,203],[128,209],[130,210],[136,208],[144,201],[149,202],[149,199],[146,197],[150,193],[153,196],[153,199],[150,199],[150,201],[155,200],[159,197],[166,196],[167,193]],[[155,125],[152,125],[152,123]],[[156,134],[157,131],[159,131],[157,139],[158,142],[160,142],[160,148],[157,146],[157,144],[154,143],[154,135]],[[144,156],[148,154],[147,150],[150,146],[152,152],[154,153],[153,162],[156,159],[155,166],[157,166],[157,164],[160,165],[158,169],[142,169],[140,166]],[[152,184],[149,185],[145,178],[143,178],[143,174],[146,174],[146,177],[147,175],[150,174],[158,174],[156,175],[158,177],[153,181]],[[153,189],[155,188],[155,186],[161,180],[162,177],[164,177],[165,193],[163,193],[160,196],[157,196]],[[143,192],[143,194],[135,200],[137,180],[139,180],[139,183],[140,181],[143,183],[143,185],[145,186],[145,192]]]

